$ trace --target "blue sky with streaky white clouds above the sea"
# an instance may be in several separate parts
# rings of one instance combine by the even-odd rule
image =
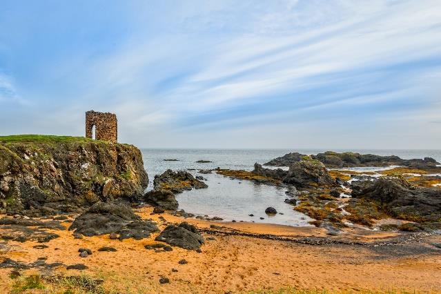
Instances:
[[[441,149],[440,0],[0,3],[0,135]]]

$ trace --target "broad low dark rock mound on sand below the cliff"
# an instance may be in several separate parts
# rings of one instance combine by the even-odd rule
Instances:
[[[159,229],[156,224],[142,220],[132,208],[119,204],[98,202],[79,215],[69,230],[87,237],[119,233],[119,239],[143,239]]]

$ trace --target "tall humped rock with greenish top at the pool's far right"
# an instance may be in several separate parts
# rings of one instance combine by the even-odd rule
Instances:
[[[289,167],[284,183],[296,187],[335,186],[335,181],[320,161],[304,157]]]

